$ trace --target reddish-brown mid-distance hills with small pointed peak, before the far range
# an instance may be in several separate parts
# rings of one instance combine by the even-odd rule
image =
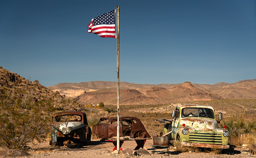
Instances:
[[[171,89],[162,87],[139,88],[136,90],[121,89],[119,91],[121,105],[133,104],[170,104],[175,102],[197,101],[197,100],[220,100],[205,91],[194,87],[190,82]],[[116,89],[101,89],[94,92],[84,93],[76,98],[76,101],[84,104],[104,102],[115,105],[117,100]]]

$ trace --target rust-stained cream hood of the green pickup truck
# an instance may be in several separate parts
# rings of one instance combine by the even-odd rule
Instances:
[[[216,132],[218,128],[217,121],[209,118],[183,118],[180,120],[180,126],[182,126],[182,124],[185,124],[185,127],[192,127],[195,131],[201,132]]]

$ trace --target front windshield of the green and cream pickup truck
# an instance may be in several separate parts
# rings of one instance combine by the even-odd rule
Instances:
[[[203,118],[214,118],[212,109],[202,107],[186,107],[181,111],[181,117],[203,117]]]

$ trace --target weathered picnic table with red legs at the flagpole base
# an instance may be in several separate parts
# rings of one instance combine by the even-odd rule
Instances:
[[[146,142],[147,139],[152,139],[152,138],[130,138],[130,137],[120,137],[120,151],[123,150],[123,148],[121,147],[123,142],[124,141],[134,141],[137,143],[137,146],[134,148],[134,150],[137,150],[137,149],[144,149],[144,150],[147,150],[146,148],[144,148],[144,144]],[[116,137],[112,137],[111,139],[106,139],[105,140],[106,142],[112,142],[113,145],[114,145],[114,148],[111,150],[111,151],[115,151],[117,148],[116,148],[116,145],[117,145],[117,139]]]

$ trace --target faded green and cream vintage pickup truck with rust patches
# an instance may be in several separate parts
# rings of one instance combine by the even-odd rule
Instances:
[[[178,105],[172,112],[172,117],[172,121],[162,119],[167,123],[164,132],[172,131],[170,139],[180,140],[184,146],[229,149],[229,132],[225,126],[218,127],[222,113],[217,121],[211,106]]]

